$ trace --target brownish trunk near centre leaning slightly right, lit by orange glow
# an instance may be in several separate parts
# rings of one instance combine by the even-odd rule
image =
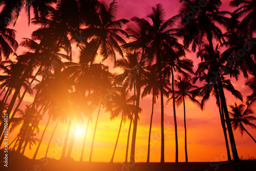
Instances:
[[[143,55],[144,55],[144,49],[142,50],[141,58],[143,57]],[[140,63],[141,62],[142,62],[142,59],[140,60]],[[136,142],[137,124],[138,124],[138,117],[139,117],[141,72],[142,72],[142,69],[140,68],[138,78],[137,78],[137,97],[136,97],[136,108],[134,113],[133,137],[132,137],[131,156],[130,156],[130,163],[132,165],[135,164],[135,142]]]

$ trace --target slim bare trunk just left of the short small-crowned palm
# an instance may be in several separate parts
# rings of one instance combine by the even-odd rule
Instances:
[[[176,119],[176,109],[175,109],[175,93],[174,93],[174,71],[173,66],[172,70],[172,89],[173,89],[173,108],[174,108],[174,126],[175,126],[175,147],[176,147],[176,155],[175,162],[178,163],[178,131],[177,131],[177,119]]]

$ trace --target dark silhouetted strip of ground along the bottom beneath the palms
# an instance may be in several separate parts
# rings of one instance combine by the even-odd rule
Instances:
[[[21,171],[57,171],[57,170],[85,170],[85,171],[155,171],[155,170],[195,170],[195,171],[209,171],[209,170],[243,170],[255,171],[256,160],[241,160],[239,162],[239,169],[236,169],[238,163],[235,162],[189,162],[189,163],[165,163],[164,169],[160,169],[160,163],[136,163],[130,165],[129,163],[89,163],[79,162],[74,160],[55,160],[44,158],[40,160],[32,160],[24,158],[8,159],[8,168],[4,166],[3,159],[0,159],[0,170],[21,170]]]

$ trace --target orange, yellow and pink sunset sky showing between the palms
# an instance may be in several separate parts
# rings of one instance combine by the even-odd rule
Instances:
[[[112,1],[105,1],[108,4]],[[166,18],[168,19],[176,14],[178,14],[180,3],[178,0],[170,1],[153,1],[153,0],[117,0],[119,4],[119,10],[117,14],[117,19],[125,18],[131,19],[133,16],[145,17],[152,11],[153,6],[158,3],[161,3],[166,11]],[[228,6],[229,1],[222,1],[221,10],[233,11],[232,8]],[[23,37],[31,38],[31,33],[34,31],[37,26],[31,24],[28,26],[27,17],[25,12],[22,12],[22,15],[18,18],[18,21],[13,27],[16,31],[16,39],[18,42],[22,41]],[[75,47],[75,46],[74,46]],[[22,54],[25,51],[24,48],[19,48],[17,54]],[[78,52],[73,51],[73,60],[76,61],[76,56]],[[197,69],[197,65],[200,62],[196,58],[195,53],[187,54],[187,58],[193,58],[194,60],[194,70]],[[106,61],[108,65],[111,65]],[[118,72],[118,69],[111,69],[113,72]],[[246,96],[251,94],[251,91],[244,86],[245,79],[241,75],[239,82],[235,79],[231,80],[234,88],[241,91],[244,102],[246,101]],[[198,84],[200,85],[200,84]],[[225,92],[227,104],[233,104],[237,102],[241,104],[242,102],[234,98],[230,93]],[[167,98],[164,98],[164,101],[167,101]],[[26,104],[33,102],[33,97],[26,95],[23,105],[20,109],[25,109]],[[185,100],[186,104],[186,123],[187,123],[187,144],[188,144],[188,161],[189,162],[207,162],[207,161],[223,161],[227,160],[226,156],[226,147],[225,139],[222,131],[221,121],[219,110],[216,105],[214,97],[211,97],[210,100],[206,103],[205,110],[201,111],[198,106],[188,99]],[[146,96],[140,102],[140,107],[142,108],[142,113],[139,114],[140,120],[138,122],[137,129],[137,138],[136,138],[136,151],[137,156],[136,162],[145,162],[147,155],[147,140],[148,140],[148,130],[150,125],[150,115],[151,115],[151,106],[152,106],[152,96]],[[229,109],[229,108],[228,108]],[[253,108],[254,115],[256,115],[256,106]],[[160,127],[160,100],[155,104],[154,118],[153,118],[153,128],[152,128],[152,142],[151,142],[151,162],[160,162],[160,146],[161,146],[161,127]],[[93,121],[89,124],[89,132],[86,140],[86,148],[84,149],[83,161],[89,160],[90,148],[92,142],[92,136],[94,131],[94,125],[96,120],[97,110],[93,114]],[[40,133],[37,138],[41,137],[42,131],[45,128],[47,123],[48,115],[44,117],[39,124]],[[115,142],[118,134],[119,124],[120,124],[121,115],[114,120],[110,120],[110,113],[105,113],[104,109],[101,110],[99,116],[99,122],[97,126],[97,132],[94,142],[93,157],[92,161],[97,162],[109,162]],[[175,134],[174,134],[174,117],[173,117],[173,105],[168,103],[164,108],[164,120],[165,120],[165,162],[174,162],[175,161]],[[179,161],[185,161],[185,152],[184,152],[184,122],[183,122],[183,105],[180,105],[177,109],[177,122],[178,122],[178,141],[179,141]],[[114,162],[123,162],[125,158],[125,149],[126,149],[126,138],[129,129],[130,121],[127,121],[125,125],[122,126],[120,138],[117,145],[117,150],[114,158]],[[256,124],[255,121],[253,121]],[[56,122],[50,122],[48,126],[46,135],[42,144],[40,146],[37,159],[43,158],[45,156],[46,147],[48,141],[52,134]],[[81,131],[77,133],[75,144],[73,147],[71,157],[74,160],[79,160],[81,153],[81,146],[86,130],[87,119],[84,119],[84,126],[81,127]],[[74,125],[71,126],[71,132]],[[248,132],[255,138],[256,130],[252,130],[251,127],[246,126]],[[67,125],[59,124],[55,135],[52,139],[49,157],[59,159],[62,151],[62,145],[66,137]],[[10,136],[9,139],[11,142],[18,132],[16,129]],[[71,137],[71,134],[70,134]],[[70,141],[69,137],[69,141]],[[256,144],[253,140],[244,133],[243,137],[239,130],[234,131],[234,138],[236,140],[239,157],[256,157]],[[131,140],[131,138],[130,138]],[[131,144],[131,143],[130,143]],[[25,155],[29,158],[33,157],[36,145],[32,147],[32,150],[27,149]],[[130,153],[129,153],[130,156]]]

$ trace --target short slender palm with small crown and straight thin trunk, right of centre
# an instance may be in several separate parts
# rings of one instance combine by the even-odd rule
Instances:
[[[178,88],[178,91],[175,91],[176,94],[176,104],[179,106],[183,103],[184,110],[184,128],[185,128],[185,161],[188,162],[187,159],[187,129],[186,129],[186,111],[185,111],[185,97],[188,97],[191,101],[200,106],[200,102],[196,100],[194,96],[194,91],[197,89],[197,86],[193,86],[190,80],[187,77],[181,78],[178,76],[178,81],[174,81],[175,86]],[[170,100],[170,99],[169,99]]]

